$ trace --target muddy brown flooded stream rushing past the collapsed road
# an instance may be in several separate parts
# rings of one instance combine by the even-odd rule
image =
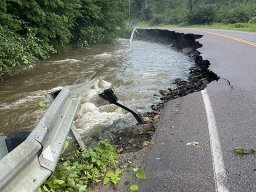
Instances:
[[[0,82],[0,133],[32,130],[45,113],[40,101],[60,86],[90,83],[79,96],[82,106],[76,118],[81,134],[103,127],[120,128],[136,123],[122,109],[98,94],[112,87],[119,100],[140,113],[159,102],[158,91],[172,87],[176,78],[186,80],[194,61],[167,45],[119,39],[113,44],[73,49],[28,66]]]

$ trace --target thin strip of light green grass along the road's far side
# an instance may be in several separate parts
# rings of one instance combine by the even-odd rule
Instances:
[[[139,27],[149,27],[147,23],[139,23]],[[156,27],[156,26],[155,26]],[[237,30],[237,31],[247,31],[256,32],[256,23],[234,23],[234,24],[224,24],[224,23],[213,23],[209,25],[167,25],[160,24],[158,27],[191,27],[191,28],[208,28],[208,29],[226,29],[226,30]]]

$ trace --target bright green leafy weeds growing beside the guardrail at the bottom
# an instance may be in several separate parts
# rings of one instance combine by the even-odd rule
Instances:
[[[65,161],[59,162],[54,174],[38,191],[90,191],[103,178],[104,184],[110,181],[116,184],[121,173],[122,170],[117,167],[115,146],[101,141],[97,146],[76,151]]]

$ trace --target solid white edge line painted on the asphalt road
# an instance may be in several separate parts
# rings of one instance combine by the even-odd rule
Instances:
[[[227,187],[227,174],[223,162],[223,155],[221,150],[221,144],[219,140],[219,133],[216,126],[216,120],[211,106],[211,101],[206,89],[201,91],[210,137],[210,145],[212,152],[212,163],[214,171],[215,187],[217,192],[229,192]]]

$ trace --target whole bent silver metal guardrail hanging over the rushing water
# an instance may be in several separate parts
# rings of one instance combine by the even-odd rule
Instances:
[[[53,173],[67,135],[79,136],[73,121],[80,99],[70,89],[83,86],[63,88],[28,138],[0,160],[1,192],[36,191]]]

